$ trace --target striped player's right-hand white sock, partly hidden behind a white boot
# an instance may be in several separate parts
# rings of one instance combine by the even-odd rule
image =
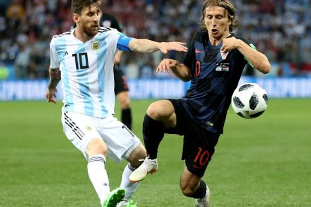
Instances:
[[[135,192],[139,184],[139,182],[133,183],[129,180],[129,176],[136,168],[137,167],[134,167],[131,164],[127,164],[123,171],[120,188],[123,188],[125,190],[124,199],[126,200],[131,199],[131,197],[133,196],[133,193]]]

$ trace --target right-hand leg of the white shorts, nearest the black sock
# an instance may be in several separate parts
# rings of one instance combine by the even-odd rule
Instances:
[[[108,146],[107,155],[115,161],[128,159],[140,144],[140,139],[112,115],[97,123],[97,131]]]

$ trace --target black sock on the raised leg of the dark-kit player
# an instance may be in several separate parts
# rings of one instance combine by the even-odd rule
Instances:
[[[158,147],[164,137],[164,128],[162,121],[151,119],[148,115],[144,116],[142,124],[142,135],[144,136],[144,146],[150,159],[156,159]]]

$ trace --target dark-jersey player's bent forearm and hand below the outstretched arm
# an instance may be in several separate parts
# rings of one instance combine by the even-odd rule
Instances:
[[[179,63],[174,59],[163,59],[156,72],[168,72],[169,69],[182,81],[189,81],[191,79],[191,70],[185,64]]]

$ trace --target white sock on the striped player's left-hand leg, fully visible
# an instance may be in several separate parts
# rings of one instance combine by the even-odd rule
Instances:
[[[110,193],[109,179],[105,169],[104,155],[93,155],[88,158],[88,177],[100,197],[100,204]]]

